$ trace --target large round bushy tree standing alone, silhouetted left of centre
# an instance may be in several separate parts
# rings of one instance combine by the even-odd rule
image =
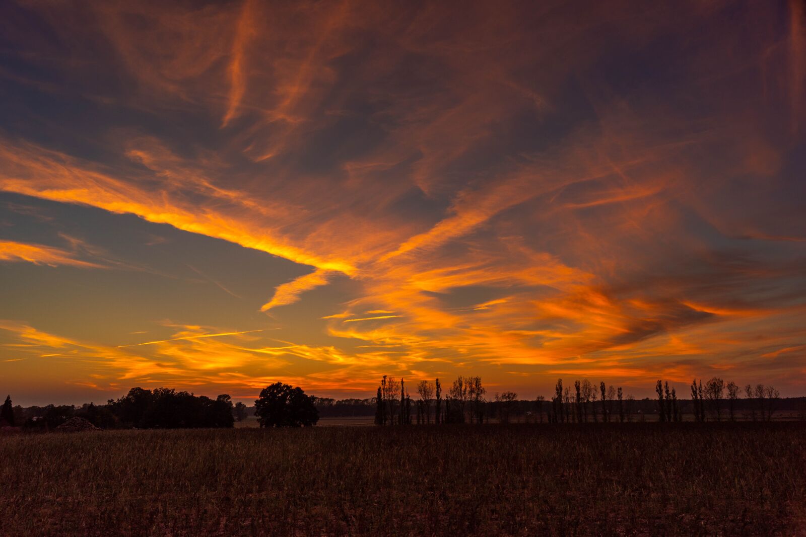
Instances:
[[[260,427],[310,427],[319,421],[314,396],[282,382],[260,391],[260,399],[255,400],[255,414]]]

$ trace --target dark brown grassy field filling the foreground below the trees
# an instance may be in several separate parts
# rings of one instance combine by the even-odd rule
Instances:
[[[806,427],[15,435],[0,490],[0,535],[806,535]]]

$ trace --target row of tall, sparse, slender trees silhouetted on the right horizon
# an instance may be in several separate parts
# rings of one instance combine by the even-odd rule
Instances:
[[[664,423],[683,421],[683,415],[693,415],[694,421],[721,421],[723,417],[735,421],[742,417],[752,421],[771,421],[778,410],[780,394],[773,386],[758,384],[744,386],[711,378],[703,386],[702,380],[694,380],[691,399],[680,399],[675,386],[659,380],[654,390],[657,396],[654,407],[650,399],[638,401],[632,394],[625,394],[621,386],[598,386],[588,379],[576,380],[573,386],[563,385],[559,378],[554,395],[546,400],[542,396],[530,403],[523,412],[523,401],[517,400],[513,391],[496,393],[485,398],[487,390],[477,376],[459,376],[447,391],[439,379],[434,382],[421,380],[416,385],[418,399],[411,399],[405,378],[384,375],[376,390],[375,423],[377,425],[406,425],[412,423],[483,423],[496,419],[509,423],[516,413],[527,420],[550,423],[611,423],[631,422],[646,419],[646,415],[658,415]],[[740,399],[742,399],[740,403]],[[366,401],[366,400],[364,400]],[[806,419],[806,402],[798,408],[800,419]]]

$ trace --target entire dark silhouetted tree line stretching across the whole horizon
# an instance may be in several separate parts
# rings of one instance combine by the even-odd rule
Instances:
[[[513,391],[487,397],[478,376],[459,376],[450,386],[420,380],[414,385],[418,399],[412,399],[405,378],[384,375],[370,399],[317,398],[301,388],[281,382],[267,386],[256,399],[254,413],[261,427],[303,427],[318,422],[319,415],[372,415],[378,425],[430,423],[485,423],[491,419],[509,423],[544,420],[550,423],[631,422],[657,415],[664,423],[683,421],[771,421],[781,406],[779,391],[763,384],[738,386],[714,377],[704,382],[695,379],[688,386],[691,399],[680,399],[676,387],[668,381],[655,383],[656,399],[635,399],[621,386],[598,386],[588,379],[573,385],[558,379],[550,399],[538,396],[534,401],[518,400]],[[802,398],[801,398],[802,399]],[[790,410],[792,410],[790,408]],[[806,399],[796,409],[806,419]],[[228,394],[210,399],[186,391],[168,388],[146,390],[135,387],[106,405],[48,405],[13,407],[10,396],[0,407],[0,426],[56,428],[72,417],[87,419],[99,428],[231,428],[250,414],[244,403],[232,403]]]

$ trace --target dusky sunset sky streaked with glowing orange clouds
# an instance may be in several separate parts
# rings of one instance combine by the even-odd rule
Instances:
[[[0,392],[803,395],[804,172],[798,1],[8,0]]]

